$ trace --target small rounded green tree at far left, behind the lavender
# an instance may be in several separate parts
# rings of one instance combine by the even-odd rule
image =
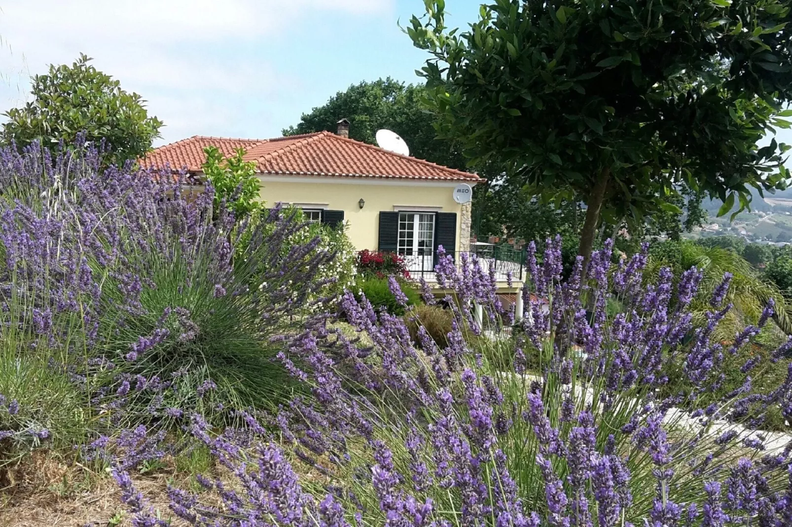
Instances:
[[[97,146],[104,142],[105,161],[117,165],[150,150],[162,122],[148,116],[143,98],[121,89],[90,61],[81,54],[71,66],[51,65],[48,74],[33,77],[33,100],[3,114],[8,120],[2,138],[17,146],[38,140],[55,147],[61,141],[68,146],[83,133]]]

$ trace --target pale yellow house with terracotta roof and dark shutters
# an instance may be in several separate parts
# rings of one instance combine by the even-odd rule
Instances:
[[[397,252],[415,277],[432,281],[440,245],[455,256],[471,252],[471,203],[457,203],[455,194],[470,194],[485,180],[352,140],[345,121],[338,134],[322,131],[273,139],[196,135],[155,149],[141,164],[186,169],[201,180],[206,146],[216,146],[225,156],[244,148],[246,160],[257,163],[261,198],[267,203],[299,207],[310,221],[345,222],[356,249]],[[477,245],[472,249],[481,252]],[[516,292],[524,275],[520,260],[489,254],[491,260],[497,260],[504,292]],[[507,273],[512,287],[506,287]]]

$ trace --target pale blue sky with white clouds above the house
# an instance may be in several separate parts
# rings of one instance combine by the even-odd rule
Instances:
[[[481,0],[446,0],[466,26]],[[418,82],[427,55],[398,28],[423,0],[11,0],[0,9],[0,113],[29,77],[80,52],[191,135],[269,138],[339,90],[390,75]],[[789,131],[785,142],[792,142]]]

